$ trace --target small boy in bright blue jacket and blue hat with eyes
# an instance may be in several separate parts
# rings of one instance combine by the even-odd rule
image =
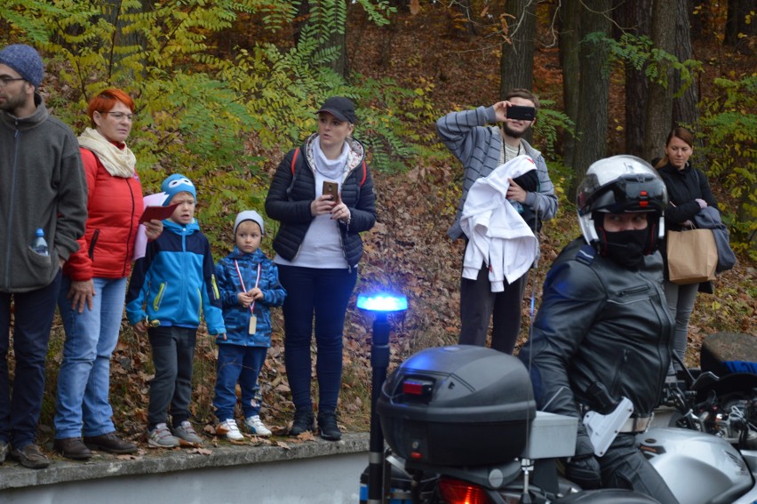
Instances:
[[[163,234],[147,244],[145,257],[134,265],[126,316],[135,331],[147,332],[153,351],[155,378],[150,383],[147,442],[172,448],[203,443],[189,423],[200,312],[211,334],[222,335],[226,329],[211,245],[195,220],[195,185],[174,174],[163,180],[161,190],[166,194],[163,206],[178,206],[163,220]],[[171,430],[166,415],[169,405]]]

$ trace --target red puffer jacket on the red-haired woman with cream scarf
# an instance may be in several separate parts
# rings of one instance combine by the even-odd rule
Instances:
[[[92,151],[79,150],[87,178],[88,217],[79,251],[71,254],[63,273],[76,282],[124,278],[131,272],[134,239],[144,212],[139,175],[114,177]]]

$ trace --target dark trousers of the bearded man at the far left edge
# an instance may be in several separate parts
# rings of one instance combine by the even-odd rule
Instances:
[[[52,316],[60,291],[60,271],[51,284],[30,292],[0,292],[0,440],[23,449],[36,437],[44,395],[44,363]],[[16,367],[13,393],[8,373],[14,304],[13,353]]]

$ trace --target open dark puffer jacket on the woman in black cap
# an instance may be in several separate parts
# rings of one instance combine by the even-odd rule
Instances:
[[[311,135],[299,149],[294,175],[291,160],[296,149],[284,156],[268,189],[266,213],[281,222],[274,238],[274,250],[285,260],[294,260],[297,256],[314,219],[310,204],[315,199],[312,142],[316,136],[317,133]],[[339,221],[339,235],[347,265],[353,268],[363,257],[363,240],[359,233],[371,229],[376,223],[376,196],[367,165],[363,173],[363,144],[355,139],[347,139],[347,142],[357,156],[351,156],[353,162],[347,166],[347,176],[342,181],[341,198],[347,204],[351,218],[349,224]]]

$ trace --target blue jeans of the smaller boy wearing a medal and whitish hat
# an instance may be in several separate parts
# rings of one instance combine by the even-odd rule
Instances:
[[[237,381],[242,389],[244,418],[260,414],[262,396],[258,377],[267,353],[266,347],[219,345],[216,396],[213,399],[219,421],[234,418]]]

